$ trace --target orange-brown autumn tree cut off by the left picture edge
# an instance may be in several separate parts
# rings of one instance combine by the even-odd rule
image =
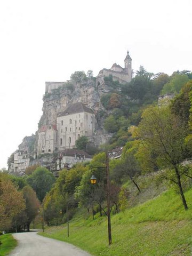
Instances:
[[[18,191],[9,175],[0,173],[0,230],[9,229],[13,218],[25,209],[21,191]]]

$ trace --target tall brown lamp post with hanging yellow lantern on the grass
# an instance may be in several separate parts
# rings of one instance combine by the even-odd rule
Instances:
[[[109,245],[112,243],[112,237],[111,237],[111,221],[110,221],[110,181],[109,181],[109,155],[108,152],[106,152],[106,166],[97,166],[97,167],[92,167],[94,168],[105,168],[106,169],[106,181],[107,181],[107,223],[108,223],[108,240],[109,240]],[[91,184],[96,184],[97,183],[97,178],[95,175],[92,175],[90,178]]]

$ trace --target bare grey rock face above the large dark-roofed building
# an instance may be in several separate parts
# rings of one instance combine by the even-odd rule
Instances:
[[[94,78],[87,78],[83,83],[74,82],[70,88],[63,86],[52,90],[51,93],[46,93],[43,97],[43,116],[39,126],[56,124],[57,115],[71,103],[82,102],[96,113],[102,108],[100,104],[102,93],[102,90],[97,90]]]

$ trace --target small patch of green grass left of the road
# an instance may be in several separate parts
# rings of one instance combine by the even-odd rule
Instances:
[[[5,234],[0,236],[0,255],[8,255],[10,251],[14,249],[15,246],[17,246],[17,241],[12,237],[11,234]]]

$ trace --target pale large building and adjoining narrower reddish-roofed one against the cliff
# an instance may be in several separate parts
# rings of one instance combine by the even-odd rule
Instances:
[[[95,115],[83,103],[71,104],[58,114],[56,125],[42,125],[38,130],[37,155],[74,148],[81,136],[92,139]]]

